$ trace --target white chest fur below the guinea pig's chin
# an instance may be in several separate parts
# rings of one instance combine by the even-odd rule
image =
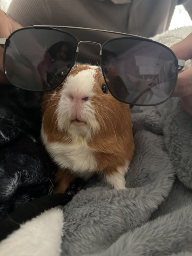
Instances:
[[[97,169],[93,150],[87,146],[84,139],[77,143],[49,143],[44,131],[41,130],[41,138],[47,151],[61,168],[71,169],[74,173],[87,179]]]

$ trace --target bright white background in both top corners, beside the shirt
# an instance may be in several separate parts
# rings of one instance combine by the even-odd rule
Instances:
[[[6,11],[12,0],[0,0],[0,8]],[[175,7],[175,12],[172,17],[169,30],[179,28],[182,26],[192,26],[192,20],[189,17],[188,12],[184,9],[182,5]]]

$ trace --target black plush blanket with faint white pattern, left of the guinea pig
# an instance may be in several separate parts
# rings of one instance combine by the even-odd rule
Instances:
[[[52,189],[55,168],[39,140],[41,94],[0,84],[0,217]]]

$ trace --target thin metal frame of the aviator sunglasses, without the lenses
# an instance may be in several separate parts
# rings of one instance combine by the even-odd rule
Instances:
[[[87,43],[87,44],[97,44],[99,45],[100,47],[100,52],[99,52],[99,58],[100,58],[100,68],[102,70],[102,48],[105,46],[105,44],[107,44],[109,41],[113,41],[113,40],[119,40],[119,39],[125,39],[125,38],[129,38],[129,39],[137,39],[137,40],[140,40],[140,41],[148,41],[148,42],[152,42],[154,44],[158,44],[160,45],[161,47],[164,47],[166,48],[167,50],[169,50],[170,52],[172,52],[172,55],[174,56],[175,58],[175,65],[177,66],[177,73],[176,73],[176,76],[175,76],[175,85],[176,85],[176,81],[177,81],[177,75],[178,75],[178,72],[180,70],[182,70],[182,68],[184,67],[184,63],[185,63],[185,60],[180,60],[180,59],[177,59],[175,53],[172,51],[172,49],[170,49],[169,47],[167,47],[166,45],[164,44],[161,44],[157,41],[154,41],[152,40],[151,38],[145,38],[145,37],[142,37],[142,36],[138,36],[138,35],[132,35],[132,34],[127,34],[127,33],[123,33],[123,32],[114,32],[114,31],[108,31],[108,30],[102,30],[102,29],[91,29],[91,28],[82,28],[82,27],[73,27],[73,26],[51,26],[51,25],[34,25],[34,26],[26,26],[26,27],[23,27],[23,28],[20,28],[20,29],[17,29],[15,30],[14,32],[12,32],[8,38],[0,38],[0,46],[4,48],[4,52],[3,52],[3,68],[4,68],[4,72],[6,74],[6,77],[9,81],[9,77],[8,77],[8,74],[7,74],[7,70],[6,70],[6,65],[5,65],[5,56],[6,56],[6,48],[9,47],[9,39],[12,37],[12,35],[14,35],[15,33],[17,33],[18,31],[20,30],[28,30],[28,29],[47,29],[47,30],[56,30],[56,31],[59,31],[59,32],[63,32],[67,35],[70,35],[71,37],[73,37],[77,43],[77,48],[76,48],[76,54],[74,56],[74,61],[73,61],[73,64],[71,65],[70,69],[68,70],[68,72],[66,73],[66,76],[64,76],[64,79],[58,84],[56,85],[55,87],[52,87],[51,89],[47,89],[47,90],[41,90],[41,91],[49,91],[49,90],[54,90],[55,88],[57,87],[60,87],[61,84],[63,83],[63,81],[67,78],[68,74],[70,73],[71,70],[74,69],[74,64],[76,63],[76,60],[78,58],[78,54],[79,54],[79,46],[81,43]],[[87,31],[96,31],[96,32],[104,32],[104,33],[108,33],[108,34],[116,34],[116,35],[122,35],[122,37],[119,37],[119,38],[112,38],[112,39],[109,39],[107,41],[105,41],[103,44],[100,44],[98,42],[93,42],[93,41],[78,41],[77,38],[73,35],[71,35],[70,33],[66,32],[66,31],[63,31],[61,29],[83,29],[83,30],[87,30]],[[105,74],[104,74],[104,71],[102,70],[102,74],[103,74],[103,77],[105,79]],[[10,81],[9,81],[10,82]],[[113,95],[113,93],[111,92],[109,86],[108,86],[108,82],[106,81],[105,79],[105,83],[108,87],[108,90],[110,91],[110,93]],[[13,84],[15,85],[15,84]],[[16,87],[18,87],[17,85],[15,85]],[[155,105],[159,105],[159,104],[162,104],[163,102],[166,102],[167,99],[169,99],[169,97],[171,96],[171,94],[173,93],[175,89],[175,86],[173,87],[172,89],[172,92],[169,94],[169,96],[162,102],[160,103],[155,103],[155,104],[151,104],[151,105],[141,105],[141,104],[132,104],[132,103],[128,103],[128,102],[125,102],[123,100],[120,100],[118,99],[115,95],[113,95],[114,98],[116,98],[117,100],[121,101],[121,102],[124,102],[126,104],[130,104],[130,105],[136,105],[136,106],[155,106]],[[29,90],[29,89],[23,89],[23,90]],[[33,90],[35,91],[35,90]],[[36,91],[40,91],[40,90],[36,90]]]

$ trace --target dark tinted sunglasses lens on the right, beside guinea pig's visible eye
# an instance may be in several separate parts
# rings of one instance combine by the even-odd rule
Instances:
[[[117,38],[102,47],[102,70],[112,95],[134,105],[169,98],[177,80],[177,59],[166,46],[140,38]]]

